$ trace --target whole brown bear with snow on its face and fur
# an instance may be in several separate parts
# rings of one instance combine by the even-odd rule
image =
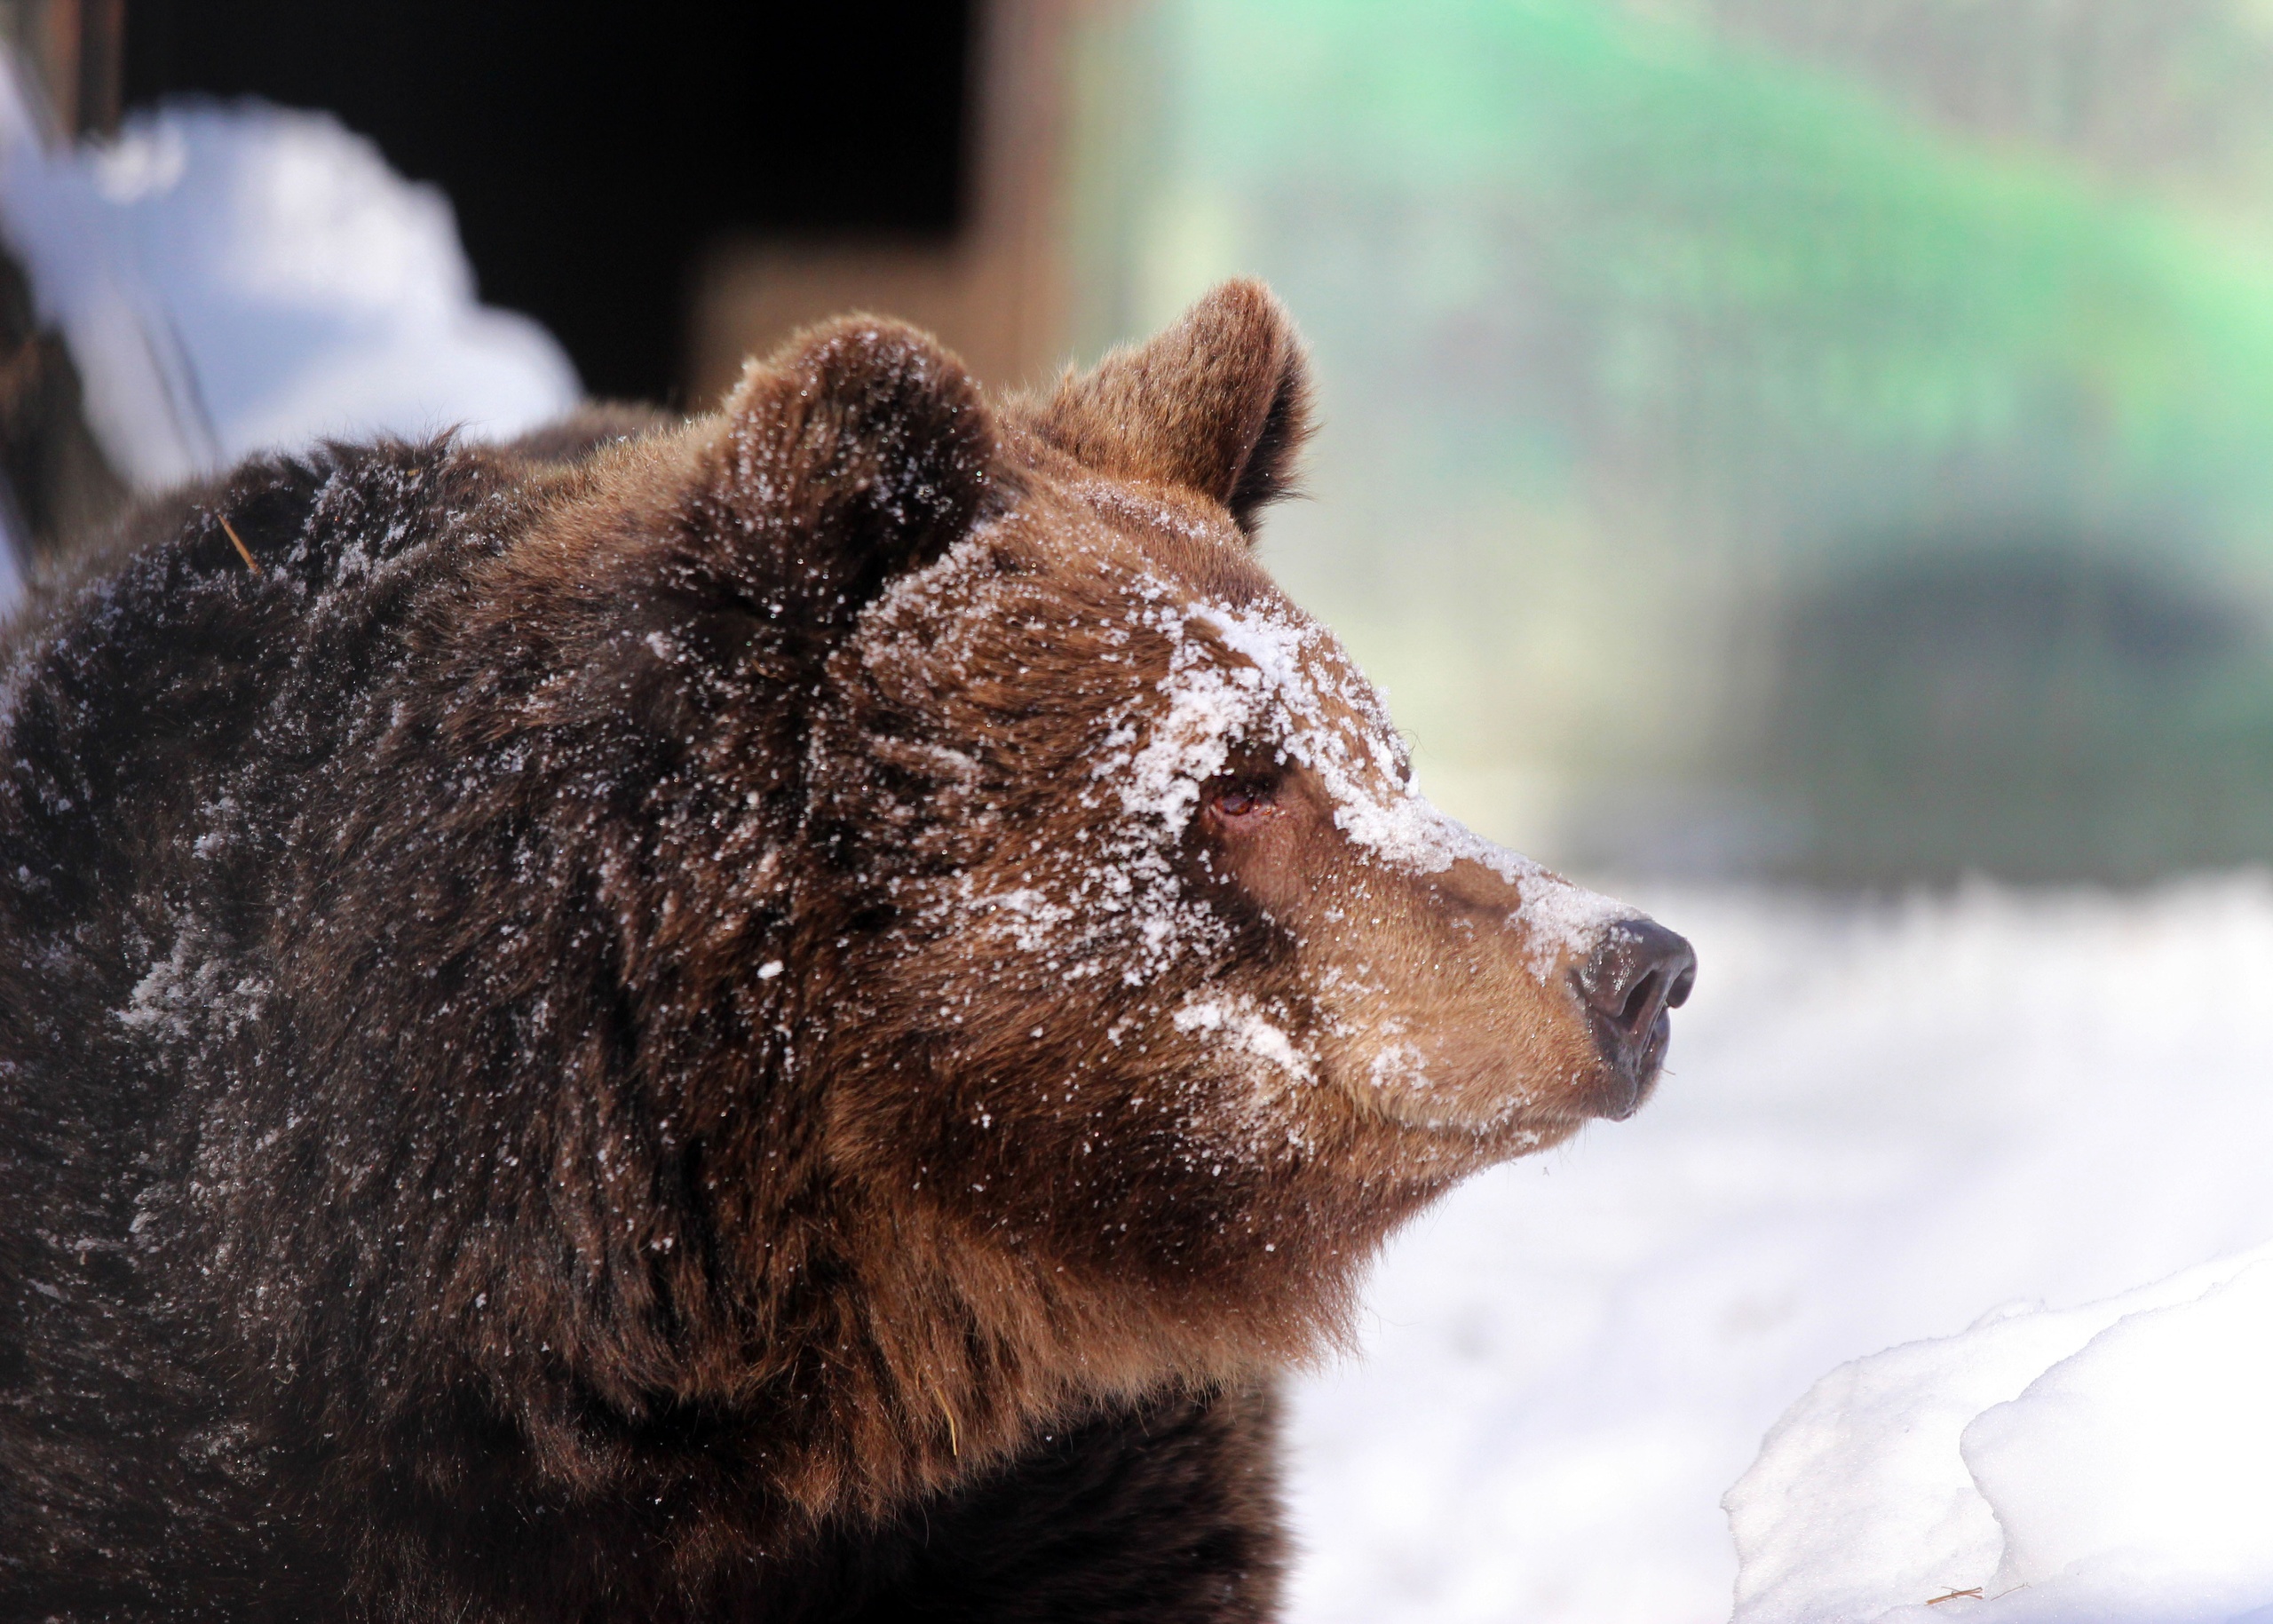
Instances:
[[[1255,562],[1230,284],[1048,398],[330,446],[0,687],[0,1615],[1262,1619],[1271,1385],[1689,948]]]

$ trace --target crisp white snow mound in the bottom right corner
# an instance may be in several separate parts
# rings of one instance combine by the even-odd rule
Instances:
[[[2273,1246],[1834,1369],[1727,1492],[1734,1624],[2273,1619]]]

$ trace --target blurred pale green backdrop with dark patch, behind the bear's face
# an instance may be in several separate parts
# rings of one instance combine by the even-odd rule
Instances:
[[[1271,280],[1268,557],[1582,869],[2273,857],[2273,5],[1084,16],[1075,325]]]

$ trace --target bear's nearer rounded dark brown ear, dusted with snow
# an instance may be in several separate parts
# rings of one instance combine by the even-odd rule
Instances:
[[[807,328],[725,403],[721,500],[766,571],[823,621],[966,535],[996,428],[930,334],[877,316]]]

